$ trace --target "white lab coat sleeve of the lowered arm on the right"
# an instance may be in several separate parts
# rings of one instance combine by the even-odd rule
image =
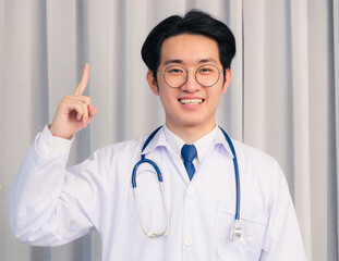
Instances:
[[[280,182],[271,188],[269,220],[259,260],[304,261],[306,257],[288,184],[277,163],[275,169]]]

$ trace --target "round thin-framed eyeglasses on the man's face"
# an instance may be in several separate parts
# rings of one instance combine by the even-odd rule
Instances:
[[[194,76],[201,86],[211,87],[219,80],[221,72],[222,70],[214,64],[204,64],[195,71]],[[172,88],[180,88],[189,78],[189,71],[179,65],[168,66],[158,73],[164,75],[165,83]]]

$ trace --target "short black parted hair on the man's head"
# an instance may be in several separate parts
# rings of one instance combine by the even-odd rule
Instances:
[[[229,27],[209,14],[192,10],[183,17],[172,15],[160,22],[148,34],[143,48],[142,58],[149,71],[155,74],[160,64],[162,42],[172,36],[182,34],[203,35],[217,41],[220,63],[230,69],[235,54],[235,39]]]

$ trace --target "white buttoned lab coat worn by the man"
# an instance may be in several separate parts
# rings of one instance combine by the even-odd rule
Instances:
[[[241,187],[241,239],[231,241],[235,185],[232,153],[220,130],[190,182],[179,154],[160,129],[145,149],[164,176],[169,235],[143,234],[131,175],[145,138],[116,144],[65,170],[70,141],[47,128],[29,149],[11,188],[14,236],[36,246],[66,244],[94,229],[102,260],[305,260],[300,228],[284,176],[269,156],[233,141]],[[145,226],[166,225],[158,181],[142,165],[137,188]]]

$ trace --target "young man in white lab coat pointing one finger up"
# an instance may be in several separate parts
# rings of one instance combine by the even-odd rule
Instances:
[[[142,55],[166,124],[65,170],[70,139],[96,115],[83,96],[86,64],[74,94],[37,136],[12,185],[15,237],[57,246],[97,229],[102,260],[305,260],[280,167],[269,156],[231,142],[216,125],[234,53],[232,33],[205,13],[162,21]],[[146,164],[134,169],[141,157]],[[164,197],[154,163],[161,171]]]

